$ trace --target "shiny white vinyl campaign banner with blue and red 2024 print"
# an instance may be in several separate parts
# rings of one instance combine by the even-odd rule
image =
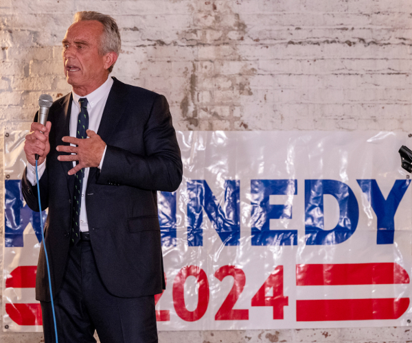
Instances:
[[[5,138],[5,331],[41,331],[39,214],[26,132]],[[159,330],[408,325],[411,190],[402,132],[177,132],[183,182],[159,192]],[[45,216],[46,213],[43,213]]]

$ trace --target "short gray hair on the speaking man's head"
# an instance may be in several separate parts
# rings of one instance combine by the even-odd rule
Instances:
[[[102,41],[100,42],[99,54],[106,55],[108,52],[113,51],[119,56],[122,40],[115,19],[99,12],[82,11],[74,14],[73,23],[78,23],[79,21],[99,21],[102,23],[103,34]],[[113,63],[108,69],[109,73],[113,70],[114,65],[115,64]]]

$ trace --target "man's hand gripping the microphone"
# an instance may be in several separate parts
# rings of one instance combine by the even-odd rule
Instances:
[[[50,121],[47,121],[46,126],[43,126],[41,123],[32,123],[30,134],[27,134],[24,142],[27,162],[31,165],[36,165],[36,154],[40,156],[38,158],[38,165],[41,165],[45,161],[47,154],[49,154],[49,133],[51,128],[52,123]]]

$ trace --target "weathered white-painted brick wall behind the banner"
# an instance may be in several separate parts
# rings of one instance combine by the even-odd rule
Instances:
[[[69,92],[60,41],[77,10],[117,19],[113,75],[166,95],[179,130],[412,132],[411,0],[0,0],[1,132],[28,128],[41,93]],[[4,343],[42,339],[0,331]],[[412,334],[190,331],[159,340],[404,343]]]

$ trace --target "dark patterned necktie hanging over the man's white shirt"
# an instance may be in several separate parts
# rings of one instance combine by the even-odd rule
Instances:
[[[78,115],[78,125],[76,138],[87,138],[86,130],[89,128],[89,113],[87,113],[87,98],[79,99],[80,113]],[[76,164],[79,162],[76,161]],[[73,197],[73,217],[71,220],[71,242],[77,244],[80,240],[80,209],[82,205],[82,185],[84,177],[84,168],[80,169],[74,178],[74,197]]]

